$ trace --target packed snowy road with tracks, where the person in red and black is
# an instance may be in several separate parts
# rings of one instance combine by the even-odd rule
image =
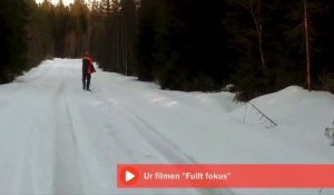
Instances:
[[[100,72],[84,91],[80,67],[47,61],[1,86],[1,194],[141,194],[116,189],[117,164],[193,163],[127,108],[122,80]]]

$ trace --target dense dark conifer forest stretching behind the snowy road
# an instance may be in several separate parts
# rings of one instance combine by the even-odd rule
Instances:
[[[291,85],[334,91],[332,0],[0,1],[0,82],[89,51],[107,71],[163,89],[236,98]]]

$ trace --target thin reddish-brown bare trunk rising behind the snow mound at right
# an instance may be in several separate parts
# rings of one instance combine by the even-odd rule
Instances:
[[[311,91],[311,56],[310,56],[310,33],[308,33],[308,16],[307,16],[307,1],[304,2],[304,27],[305,27],[305,45],[306,45],[306,85]]]

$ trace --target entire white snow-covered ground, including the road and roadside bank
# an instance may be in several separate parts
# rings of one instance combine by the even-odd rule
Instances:
[[[160,90],[55,59],[0,86],[0,194],[334,194],[334,189],[118,189],[117,164],[333,164],[334,96],[288,87],[252,100]]]

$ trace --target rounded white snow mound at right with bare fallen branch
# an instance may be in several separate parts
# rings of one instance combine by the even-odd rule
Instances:
[[[330,148],[324,130],[331,126],[334,117],[332,94],[291,86],[249,103],[277,124],[269,131],[264,131],[268,136],[314,150]],[[236,108],[230,116],[239,123],[250,125],[249,128],[263,130],[269,126],[269,121],[249,104]]]

